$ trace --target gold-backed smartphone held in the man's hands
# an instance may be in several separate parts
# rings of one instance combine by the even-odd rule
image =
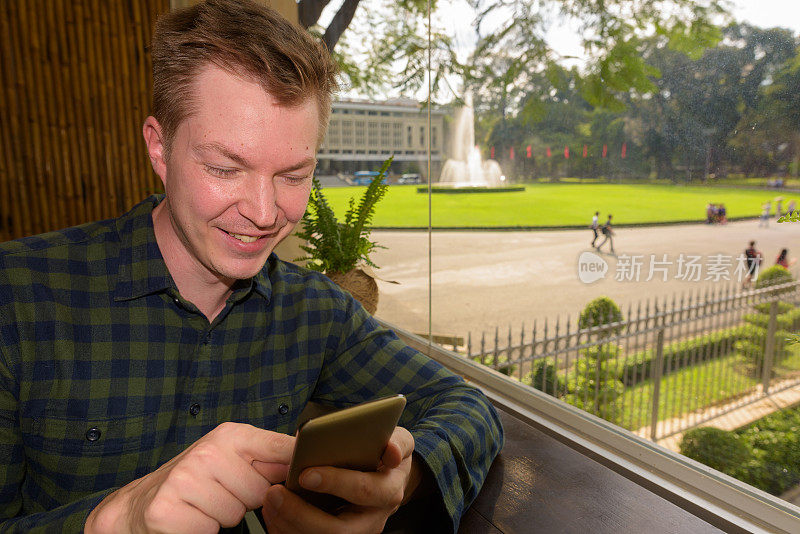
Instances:
[[[403,395],[363,402],[309,419],[297,429],[286,487],[307,502],[333,513],[346,501],[300,486],[300,473],[309,467],[334,466],[375,471],[403,413]]]

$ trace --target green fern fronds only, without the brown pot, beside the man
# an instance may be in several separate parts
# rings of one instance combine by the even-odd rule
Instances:
[[[308,243],[300,247],[308,256],[296,261],[308,260],[309,269],[327,273],[346,273],[355,268],[359,261],[378,267],[370,260],[369,254],[376,248],[383,247],[370,241],[370,225],[375,206],[389,188],[384,183],[384,177],[391,164],[391,157],[383,162],[378,175],[364,191],[358,204],[355,198],[350,198],[344,222],[336,219],[322,192],[322,186],[314,178],[302,230],[297,232],[297,236]]]

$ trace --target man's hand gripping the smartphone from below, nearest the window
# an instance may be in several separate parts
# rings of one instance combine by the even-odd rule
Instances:
[[[397,427],[374,473],[336,467],[311,467],[300,475],[306,489],[330,493],[351,505],[330,515],[287,490],[272,486],[264,499],[263,515],[270,534],[290,532],[367,533],[383,530],[386,520],[407,502],[422,478],[422,467],[412,462],[414,438]]]

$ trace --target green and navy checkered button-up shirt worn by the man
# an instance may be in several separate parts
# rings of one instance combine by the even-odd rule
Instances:
[[[274,255],[209,324],[159,251],[160,200],[0,244],[0,532],[81,531],[222,422],[293,434],[309,401],[393,393],[455,530],[502,446],[486,398]]]

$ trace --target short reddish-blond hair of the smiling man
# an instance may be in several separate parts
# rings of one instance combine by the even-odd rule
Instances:
[[[325,46],[270,7],[250,0],[207,0],[159,17],[153,34],[153,109],[166,156],[197,102],[192,84],[209,64],[257,80],[280,104],[316,98],[317,146],[330,117],[337,67]]]

